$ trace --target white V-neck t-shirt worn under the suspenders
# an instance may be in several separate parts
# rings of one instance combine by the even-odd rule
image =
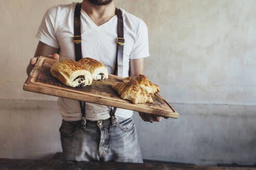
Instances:
[[[43,43],[59,48],[60,60],[75,60],[73,39],[75,3],[50,8],[45,13],[36,38]],[[124,22],[123,77],[129,76],[130,59],[149,56],[148,30],[143,20],[121,9]],[[102,62],[113,74],[117,53],[117,16],[97,26],[81,9],[82,55]],[[76,100],[58,99],[59,112],[66,121],[81,120],[80,104]],[[109,118],[109,106],[86,103],[86,119],[104,120]],[[130,118],[133,112],[117,108],[116,116]]]

